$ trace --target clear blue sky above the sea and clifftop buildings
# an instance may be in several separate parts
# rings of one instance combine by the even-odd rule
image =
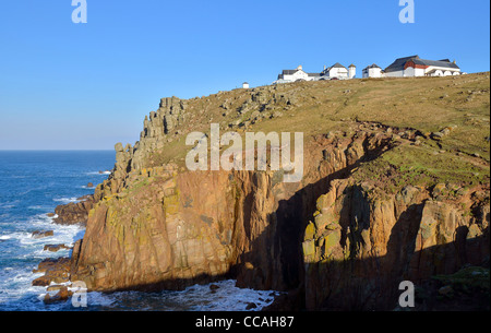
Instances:
[[[0,150],[111,150],[133,144],[161,97],[191,98],[283,69],[395,58],[489,71],[489,0],[71,0],[0,4]]]

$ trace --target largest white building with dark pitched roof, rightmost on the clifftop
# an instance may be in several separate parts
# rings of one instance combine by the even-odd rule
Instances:
[[[411,78],[411,76],[448,76],[460,75],[460,69],[448,59],[424,60],[419,56],[396,59],[387,67],[383,76],[386,78]]]

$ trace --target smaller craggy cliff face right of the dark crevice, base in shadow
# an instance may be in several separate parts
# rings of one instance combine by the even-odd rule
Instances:
[[[489,258],[489,199],[475,188],[442,200],[406,186],[380,197],[369,183],[336,180],[304,233],[309,309],[391,309],[399,283],[421,283]],[[475,214],[463,211],[472,205]]]

